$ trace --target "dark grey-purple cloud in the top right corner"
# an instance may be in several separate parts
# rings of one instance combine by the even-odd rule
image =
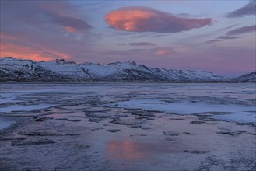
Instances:
[[[233,12],[229,12],[226,17],[243,17],[243,16],[249,16],[249,15],[255,15],[256,9],[255,9],[256,1],[252,0],[247,5],[244,5],[240,9],[237,9]]]

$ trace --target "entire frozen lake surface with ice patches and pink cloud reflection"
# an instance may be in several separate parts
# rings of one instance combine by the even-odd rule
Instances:
[[[1,85],[0,170],[255,170],[255,85]]]

